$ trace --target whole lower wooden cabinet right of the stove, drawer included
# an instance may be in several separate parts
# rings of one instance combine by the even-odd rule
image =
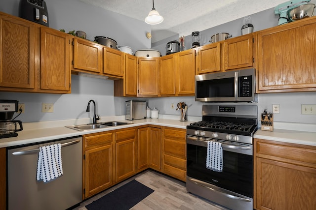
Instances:
[[[316,147],[254,142],[254,208],[315,210]]]

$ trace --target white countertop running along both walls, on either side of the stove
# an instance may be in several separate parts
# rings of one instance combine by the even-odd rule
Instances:
[[[116,130],[141,125],[158,125],[186,129],[192,122],[201,120],[201,117],[191,117],[190,121],[179,121],[179,116],[159,115],[158,119],[125,120],[125,116],[101,117],[100,122],[124,121],[125,125],[98,128],[89,131],[77,131],[65,127],[66,125],[78,125],[89,123],[91,119],[75,119],[60,121],[41,121],[23,123],[23,130],[17,137],[0,139],[0,148],[20,146],[31,143],[40,143],[50,140],[81,136],[89,133]],[[275,122],[273,131],[263,131],[260,128],[254,134],[254,138],[287,143],[316,146],[316,124]]]

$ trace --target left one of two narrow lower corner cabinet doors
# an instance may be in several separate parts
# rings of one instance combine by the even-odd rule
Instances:
[[[137,172],[149,167],[150,136],[149,127],[137,129]]]

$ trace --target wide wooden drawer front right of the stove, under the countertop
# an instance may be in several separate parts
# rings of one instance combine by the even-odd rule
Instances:
[[[257,142],[257,156],[269,155],[316,164],[316,150],[295,146]]]

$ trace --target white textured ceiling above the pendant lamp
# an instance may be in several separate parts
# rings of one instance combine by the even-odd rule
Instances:
[[[144,20],[152,0],[80,0],[138,20]],[[152,43],[170,36],[190,35],[285,2],[285,0],[154,0],[164,20],[152,25]]]

